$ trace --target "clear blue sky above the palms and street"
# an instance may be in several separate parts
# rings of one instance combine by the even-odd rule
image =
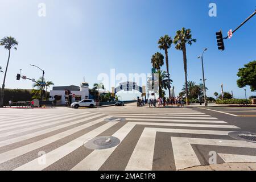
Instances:
[[[209,3],[216,3],[217,16],[210,17]],[[39,3],[46,4],[46,17],[38,16]],[[256,60],[256,16],[225,41],[226,50],[218,51],[215,32],[224,35],[234,30],[256,9],[255,0],[0,0],[0,38],[13,36],[18,51],[11,54],[6,88],[31,89],[32,82],[16,81],[16,73],[46,79],[56,86],[99,82],[100,73],[149,73],[151,56],[160,51],[158,39],[176,30],[191,28],[197,42],[187,47],[188,80],[200,82],[201,55],[205,47],[205,77],[208,96],[214,92],[231,92],[244,98],[237,87],[238,69]],[[164,54],[163,51],[160,51]],[[0,66],[5,69],[7,51],[0,47]],[[174,46],[169,50],[170,73],[176,93],[184,84],[183,56]],[[166,69],[164,65],[163,69]],[[3,74],[0,74],[2,85]],[[255,95],[247,87],[247,95]],[[131,96],[122,95],[122,100]]]

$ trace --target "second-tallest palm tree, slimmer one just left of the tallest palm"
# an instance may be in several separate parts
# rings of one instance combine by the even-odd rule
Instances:
[[[173,43],[172,38],[169,35],[164,35],[160,37],[158,44],[159,48],[164,50],[166,54],[166,71],[168,74],[168,80],[170,80],[170,73],[169,73],[169,61],[168,61],[168,49],[171,48],[171,44]],[[170,82],[168,85],[168,90],[169,90],[169,98],[171,98],[171,86]]]

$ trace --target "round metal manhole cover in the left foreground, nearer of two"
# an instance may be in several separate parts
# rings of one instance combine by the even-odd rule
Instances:
[[[84,143],[86,148],[92,150],[103,150],[117,146],[120,140],[116,137],[95,137]]]

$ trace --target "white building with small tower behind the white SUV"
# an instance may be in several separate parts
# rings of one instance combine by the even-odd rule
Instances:
[[[65,95],[65,90],[70,90],[69,96]],[[79,86],[53,86],[50,91],[50,101],[54,101],[57,106],[66,105],[66,100],[69,103],[89,99],[89,84],[82,82]]]

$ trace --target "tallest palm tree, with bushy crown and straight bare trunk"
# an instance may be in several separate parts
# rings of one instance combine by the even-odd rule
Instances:
[[[187,49],[186,44],[188,43],[190,46],[192,42],[196,42],[196,39],[192,39],[191,30],[181,28],[176,32],[176,36],[174,38],[174,44],[176,45],[176,49],[181,50],[183,52],[183,63],[184,63],[184,72],[185,72],[185,91],[186,91],[186,101],[187,105],[189,105],[188,100],[188,79],[187,79]]]

